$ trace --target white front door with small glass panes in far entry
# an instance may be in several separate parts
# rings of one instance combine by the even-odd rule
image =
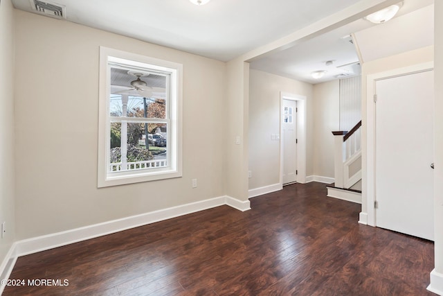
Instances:
[[[283,100],[282,152],[283,184],[297,180],[297,101]]]

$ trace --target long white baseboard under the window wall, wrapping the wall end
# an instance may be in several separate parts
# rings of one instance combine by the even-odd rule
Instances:
[[[221,205],[228,205],[238,209],[239,211],[247,211],[248,209],[251,209],[249,200],[237,200],[225,195],[219,198],[192,202],[177,207],[170,207],[168,209],[161,209],[159,211],[152,211],[150,213],[17,241],[15,243],[15,254],[16,256],[33,254],[52,249],[54,247],[69,245],[71,243],[85,241],[90,238],[121,232],[126,229],[156,223],[162,220],[168,220],[170,218],[195,213],[197,211],[203,211],[205,209],[211,209],[213,207],[219,207]]]

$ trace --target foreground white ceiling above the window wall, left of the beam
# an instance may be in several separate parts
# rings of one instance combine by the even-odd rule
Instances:
[[[45,0],[40,0],[45,1]],[[228,61],[359,0],[48,0],[68,21]],[[30,0],[12,0],[33,12]]]

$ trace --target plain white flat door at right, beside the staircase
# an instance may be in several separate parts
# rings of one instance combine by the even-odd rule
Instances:
[[[433,240],[433,71],[376,82],[376,225]]]

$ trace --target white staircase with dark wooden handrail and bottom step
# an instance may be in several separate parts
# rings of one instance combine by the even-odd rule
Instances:
[[[361,204],[361,121],[349,132],[334,134],[334,186],[327,196]]]

